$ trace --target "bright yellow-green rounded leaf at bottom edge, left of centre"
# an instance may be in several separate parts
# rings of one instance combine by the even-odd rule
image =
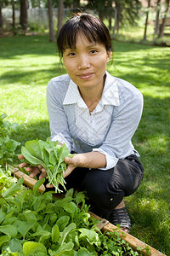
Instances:
[[[46,247],[36,241],[26,241],[23,245],[23,253],[25,256],[47,256]]]

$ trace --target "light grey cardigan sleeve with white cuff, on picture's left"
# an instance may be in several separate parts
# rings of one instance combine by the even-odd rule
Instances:
[[[60,85],[60,86],[59,86]],[[67,123],[67,117],[63,108],[65,96],[64,84],[51,80],[47,87],[47,108],[49,117],[49,126],[51,131],[51,140],[65,143],[71,152],[72,141]]]

